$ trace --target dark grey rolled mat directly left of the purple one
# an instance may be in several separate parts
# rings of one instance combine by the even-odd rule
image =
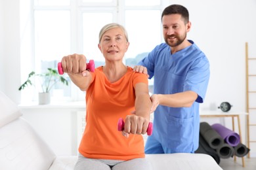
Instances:
[[[224,140],[207,122],[200,123],[200,134],[211,148],[217,149],[224,144]]]

